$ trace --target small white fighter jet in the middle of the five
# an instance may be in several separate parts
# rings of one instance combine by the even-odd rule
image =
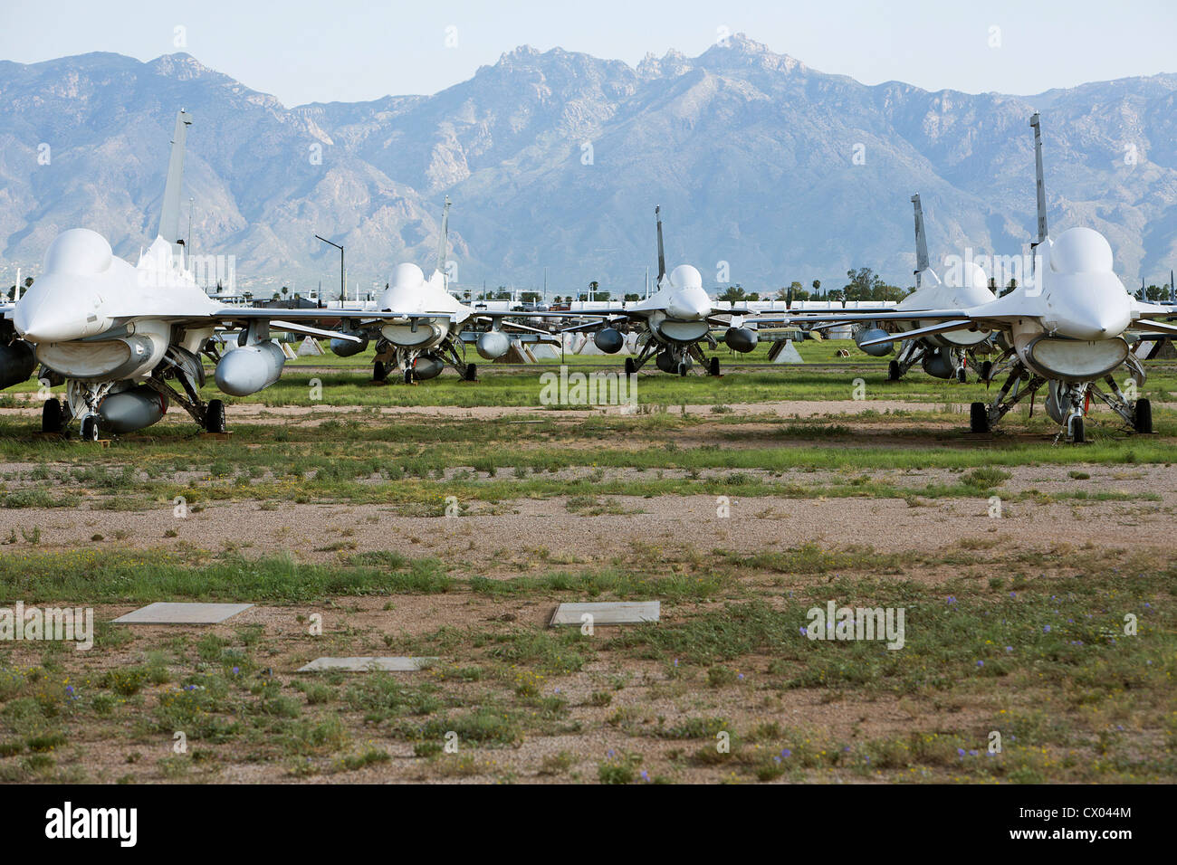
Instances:
[[[596,331],[593,341],[607,354],[616,354],[625,345],[621,328],[638,332],[638,357],[625,359],[625,373],[632,375],[651,358],[663,372],[686,375],[692,361],[706,364],[709,375],[719,374],[719,358],[710,361],[700,348],[706,342],[712,350],[717,341],[712,330],[724,328],[724,341],[738,352],[756,348],[756,331],[744,327],[743,315],[747,310],[725,310],[707,297],[703,288],[703,277],[691,265],[679,265],[666,273],[666,254],[663,247],[661,208],[654,208],[658,231],[658,281],[657,291],[645,300],[620,306],[593,307],[576,312],[540,312],[540,318],[597,318],[600,321],[578,325],[565,330]]]

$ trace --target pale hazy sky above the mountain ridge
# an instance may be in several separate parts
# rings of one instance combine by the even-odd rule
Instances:
[[[519,45],[631,65],[667,48],[696,55],[726,28],[866,84],[1029,95],[1177,72],[1175,25],[1175,0],[2,0],[0,59],[112,51],[149,60],[182,49],[292,106],[434,93]]]

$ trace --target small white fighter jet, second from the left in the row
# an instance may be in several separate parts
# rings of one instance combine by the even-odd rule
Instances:
[[[446,366],[467,381],[477,378],[478,365],[466,362],[466,344],[461,332],[471,326],[486,326],[478,334],[474,346],[483,358],[501,358],[511,348],[511,338],[504,328],[543,333],[547,331],[507,320],[519,313],[476,310],[453,297],[446,288],[446,246],[450,228],[450,199],[441,211],[441,237],[438,240],[438,262],[432,275],[412,262],[397,265],[388,286],[380,293],[375,310],[381,317],[346,317],[340,324],[340,338],[332,340],[331,350],[340,357],[364,351],[375,340],[375,360],[372,378],[384,381],[388,367],[394,366],[405,384],[432,379]]]

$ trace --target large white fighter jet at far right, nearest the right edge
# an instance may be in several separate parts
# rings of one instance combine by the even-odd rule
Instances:
[[[864,340],[863,346],[902,339],[917,340],[949,333],[996,331],[1010,346],[1010,374],[989,405],[973,402],[972,432],[989,432],[1015,405],[1048,387],[1046,412],[1062,425],[1059,435],[1085,440],[1084,418],[1091,397],[1105,402],[1136,432],[1152,432],[1148,399],[1126,395],[1116,381],[1126,372],[1135,392],[1145,372],[1129,351],[1125,334],[1148,330],[1177,334],[1177,325],[1162,321],[1175,308],[1137,300],[1112,270],[1112,252],[1098,232],[1069,228],[1051,239],[1046,229],[1046,189],[1043,179],[1042,128],[1035,114],[1035,168],[1038,204],[1038,239],[1032,245],[1033,277],[1005,297],[964,308],[919,313],[919,326],[897,334]],[[873,320],[903,320],[910,313],[872,315]],[[833,318],[833,317],[831,317]],[[855,320],[843,315],[842,320]],[[1102,390],[1098,382],[1106,385]]]

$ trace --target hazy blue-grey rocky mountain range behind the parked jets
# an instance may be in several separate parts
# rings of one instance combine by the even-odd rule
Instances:
[[[1025,249],[1033,111],[1052,231],[1103,232],[1129,287],[1177,261],[1177,75],[930,92],[818,72],[740,34],[637,67],[520,47],[433,95],[290,108],[184,53],[0,61],[5,285],[71,227],[138,255],[180,107],[193,251],[234,257],[238,286],[264,291],[338,287],[339,253],[315,234],[346,247],[350,291],[399,261],[432,270],[447,195],[453,278],[476,292],[641,292],[656,204],[669,265],[694,264],[709,287],[834,287],[862,266],[910,285],[916,192],[933,259]]]

